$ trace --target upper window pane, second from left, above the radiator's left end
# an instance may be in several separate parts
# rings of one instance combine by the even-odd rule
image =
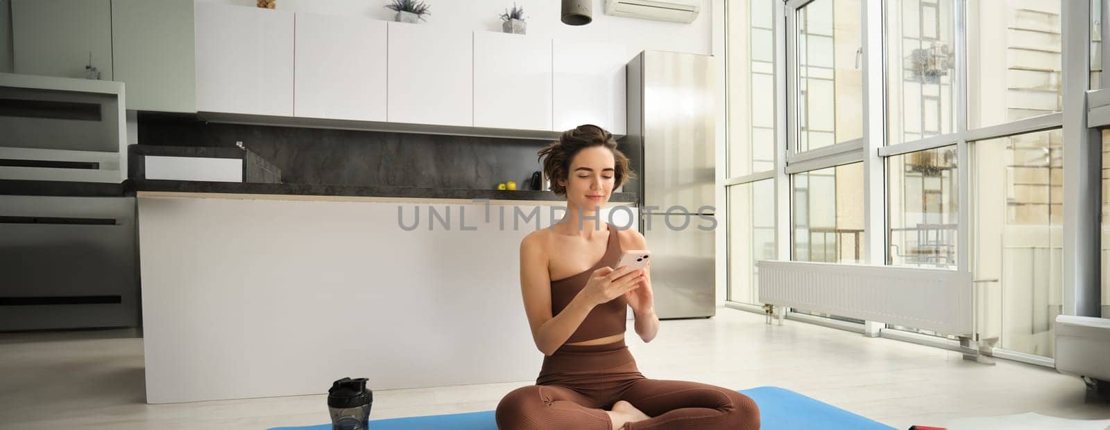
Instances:
[[[797,12],[796,152],[864,136],[860,0],[814,0]]]

